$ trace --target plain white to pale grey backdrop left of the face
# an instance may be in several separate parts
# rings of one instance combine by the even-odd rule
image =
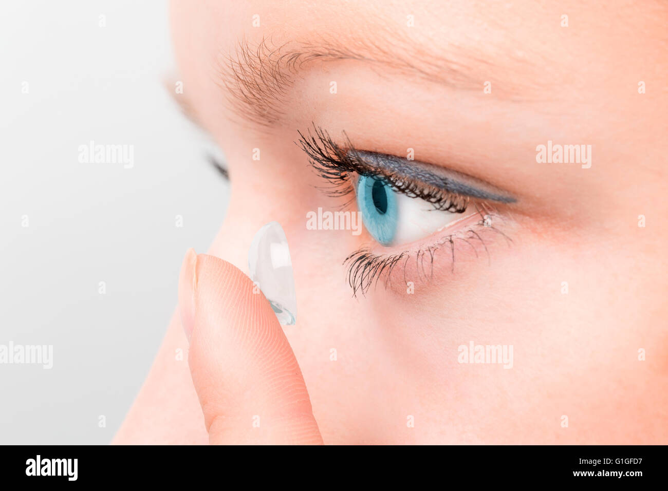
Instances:
[[[174,70],[166,2],[0,3],[0,345],[53,345],[50,370],[0,364],[1,444],[110,442],[224,216]],[[90,140],[134,167],[79,163]]]

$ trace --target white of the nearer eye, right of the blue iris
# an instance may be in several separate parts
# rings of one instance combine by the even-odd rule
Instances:
[[[428,237],[439,228],[468,216],[464,213],[450,213],[437,210],[420,198],[409,198],[401,192],[394,192],[397,200],[397,231],[391,242],[392,246],[409,244]]]

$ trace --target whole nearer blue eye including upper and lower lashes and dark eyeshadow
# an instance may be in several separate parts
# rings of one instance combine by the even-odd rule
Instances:
[[[508,244],[512,242],[498,228],[506,220],[497,208],[516,202],[516,198],[492,184],[442,166],[357,150],[345,133],[345,144],[341,146],[315,124],[313,131],[309,129],[306,136],[299,132],[299,136],[297,144],[307,154],[311,166],[329,182],[323,188],[325,193],[334,197],[356,196],[365,228],[378,244],[378,247],[363,247],[344,261],[353,295],[365,295],[381,276],[385,277],[387,287],[390,277],[399,270],[403,271],[404,282],[407,277],[431,279],[437,251],[439,257],[450,259],[450,269],[454,272],[456,251],[466,257],[489,258],[486,240],[490,234],[502,236]],[[343,206],[349,206],[353,200],[347,200]],[[414,206],[410,203],[413,200]],[[416,210],[418,218],[407,220]],[[407,221],[415,225],[413,234],[395,233],[405,228]],[[425,224],[432,229],[415,236],[415,230]],[[397,240],[397,236],[401,239]],[[464,250],[460,251],[462,247]]]

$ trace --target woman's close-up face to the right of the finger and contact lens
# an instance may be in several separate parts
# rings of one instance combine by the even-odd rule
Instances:
[[[176,97],[230,176],[209,253],[247,271],[283,226],[325,443],[665,442],[666,18],[172,3]]]

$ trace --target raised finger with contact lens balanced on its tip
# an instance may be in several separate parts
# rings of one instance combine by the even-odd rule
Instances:
[[[299,363],[265,295],[218,257],[198,255],[193,266],[196,281],[184,280],[194,285],[188,365],[210,442],[322,443]],[[256,416],[261,429],[251,424]]]

